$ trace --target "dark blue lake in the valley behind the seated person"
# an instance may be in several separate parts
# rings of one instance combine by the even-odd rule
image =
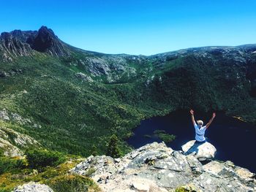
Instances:
[[[206,124],[211,115],[195,114],[196,120]],[[165,117],[154,117],[142,120],[140,126],[134,129],[134,136],[127,142],[135,148],[151,142],[162,142],[154,136],[155,130],[165,130],[176,135],[173,142],[167,143],[173,150],[181,150],[189,140],[195,139],[189,112],[173,112]],[[151,135],[151,138],[144,135]],[[230,118],[223,113],[217,113],[211,126],[206,130],[206,138],[217,148],[216,158],[222,161],[233,161],[234,164],[256,172],[256,127],[236,118]]]

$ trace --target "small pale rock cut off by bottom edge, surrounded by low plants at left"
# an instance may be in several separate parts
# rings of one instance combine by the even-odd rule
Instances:
[[[12,192],[53,192],[53,190],[48,185],[30,182],[18,186]]]

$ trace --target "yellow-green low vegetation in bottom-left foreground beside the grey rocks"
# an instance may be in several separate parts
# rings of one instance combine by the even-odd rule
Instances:
[[[18,185],[30,181],[49,185],[56,192],[99,191],[99,187],[91,178],[69,174],[69,169],[72,169],[80,161],[77,160],[78,157],[68,156],[67,158],[69,161],[58,166],[45,166],[44,169],[41,169],[42,172],[37,172],[37,169],[31,169],[28,165],[6,169],[3,174],[0,174],[0,191],[10,192]],[[93,171],[95,172],[91,169],[89,174],[92,174]]]

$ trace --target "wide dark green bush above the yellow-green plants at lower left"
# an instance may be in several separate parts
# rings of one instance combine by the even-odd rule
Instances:
[[[65,161],[61,153],[48,150],[29,150],[26,159],[32,169],[42,169],[45,166],[56,166]]]

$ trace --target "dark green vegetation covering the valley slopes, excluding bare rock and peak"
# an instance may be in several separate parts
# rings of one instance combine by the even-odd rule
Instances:
[[[89,55],[102,59],[106,56],[78,53],[73,58],[37,53],[33,58],[0,62],[1,71],[21,70],[0,78],[0,110],[5,108],[42,126],[20,126],[11,121],[8,128],[28,134],[48,150],[88,156],[93,151],[106,154],[108,139],[113,134],[120,140],[121,153],[127,153],[130,148],[125,139],[132,135],[132,128],[138,126],[140,120],[174,110],[190,107],[203,112],[222,110],[256,122],[256,101],[246,91],[248,81],[233,77],[233,74],[243,74],[243,69],[228,71],[227,65],[232,64],[232,59],[222,61],[214,56],[202,60],[187,54],[169,57],[162,63],[161,56],[142,57],[140,62],[124,58],[127,66],[137,70],[135,77],[106,82],[106,75],[92,77],[88,64],[79,61]],[[230,80],[219,76],[219,71],[226,72]],[[94,82],[81,80],[75,76],[76,72],[91,76]],[[161,137],[173,139],[167,139],[165,134]]]

